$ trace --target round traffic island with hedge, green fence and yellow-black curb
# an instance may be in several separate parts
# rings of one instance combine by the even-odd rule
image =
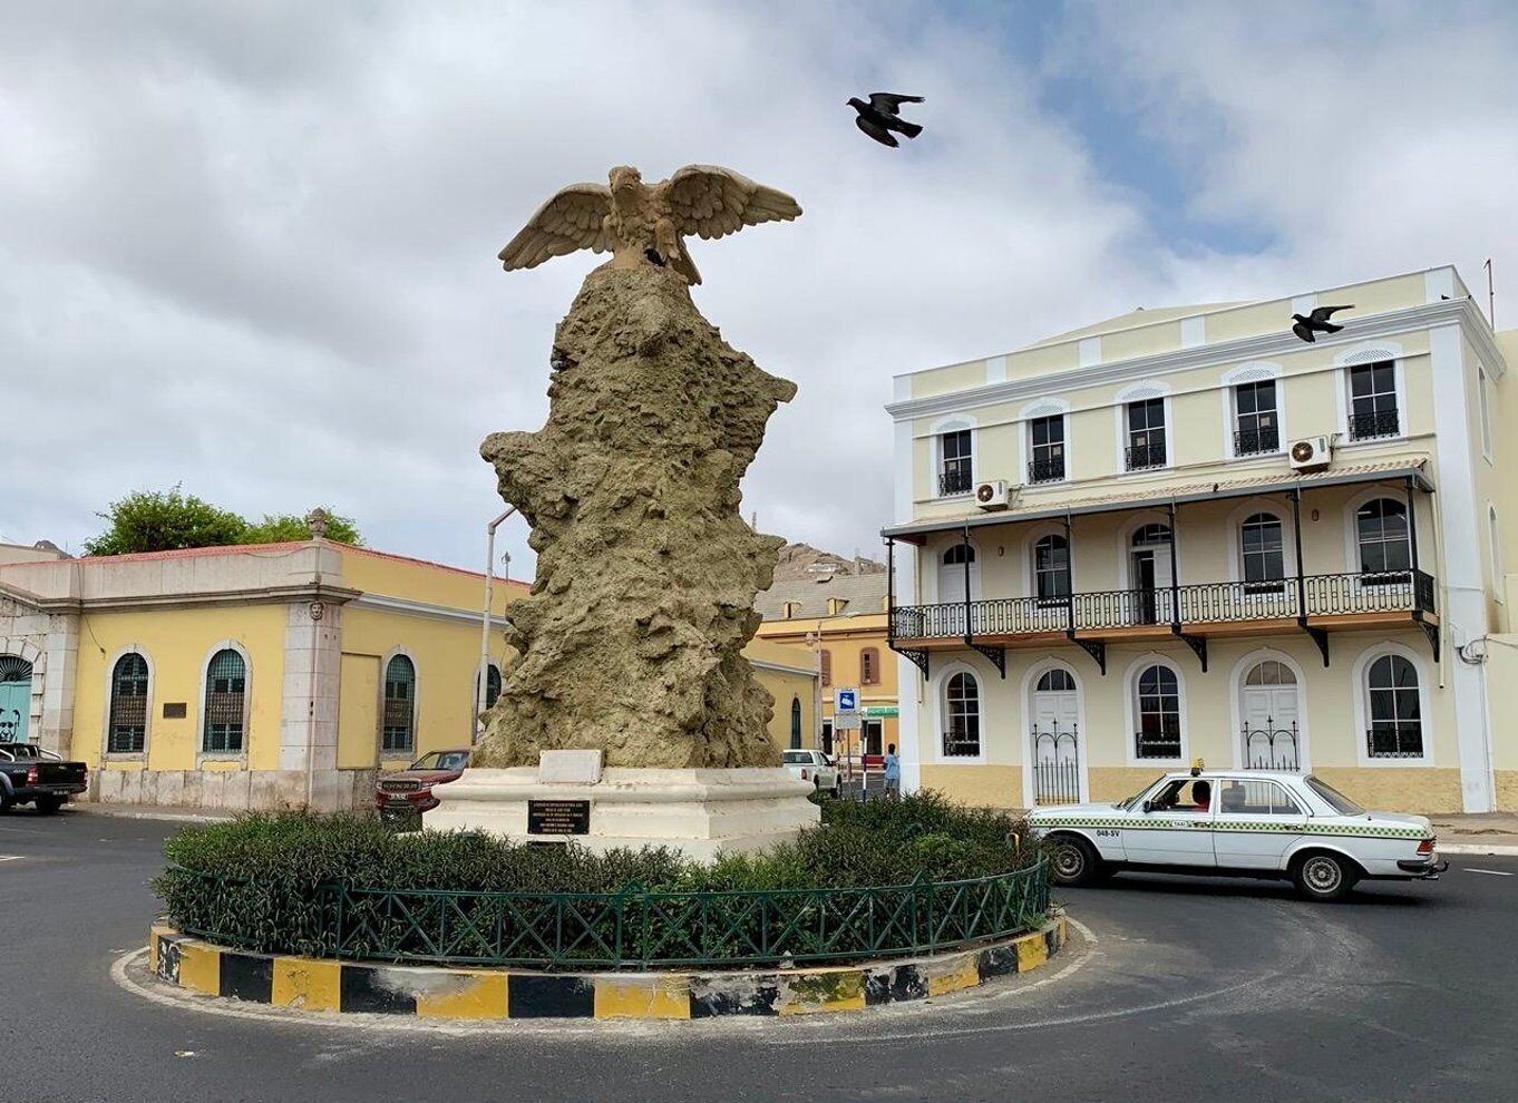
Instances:
[[[795,842],[710,863],[302,813],[191,827],[165,854],[152,973],[319,1012],[862,1010],[1023,973],[1064,944],[1020,821],[935,793],[824,801]]]

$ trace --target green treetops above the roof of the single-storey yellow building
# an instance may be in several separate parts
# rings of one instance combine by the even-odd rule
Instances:
[[[264,514],[263,520],[249,522],[231,510],[185,495],[179,487],[135,490],[111,502],[99,516],[108,520],[109,526],[94,540],[85,540],[87,555],[129,555],[179,548],[311,539],[304,514]],[[342,517],[332,510],[326,510],[326,539],[360,546],[364,542],[352,517]]]

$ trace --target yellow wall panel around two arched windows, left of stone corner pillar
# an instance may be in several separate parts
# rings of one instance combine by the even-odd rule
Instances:
[[[279,712],[284,696],[287,605],[155,608],[85,613],[79,627],[71,754],[99,768],[105,756],[108,665],[126,648],[147,657],[152,672],[147,719],[147,769],[197,769],[205,666],[222,640],[247,652],[249,718],[244,740],[249,769],[279,765]],[[182,701],[184,719],[164,719],[164,704]],[[143,769],[141,756],[112,756],[108,769]],[[237,762],[208,760],[206,769]]]

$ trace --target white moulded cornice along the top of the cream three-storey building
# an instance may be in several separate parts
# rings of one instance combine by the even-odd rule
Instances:
[[[1377,337],[1392,337],[1451,323],[1460,325],[1462,332],[1475,346],[1482,363],[1489,366],[1494,376],[1500,378],[1506,373],[1506,363],[1501,352],[1497,350],[1492,329],[1482,316],[1480,308],[1471,299],[1442,299],[1439,302],[1357,319],[1353,325],[1345,326],[1343,332],[1319,338],[1316,347],[1333,349],[1359,344]],[[978,407],[1017,402],[1020,399],[1040,398],[1082,387],[1101,387],[1172,375],[1175,372],[1189,372],[1198,367],[1233,364],[1248,360],[1269,360],[1301,350],[1301,340],[1290,329],[1286,329],[1278,334],[1242,337],[1234,341],[1198,344],[1190,349],[1170,349],[1169,352],[1135,357],[1113,364],[1093,364],[1067,372],[1050,372],[1047,375],[1006,379],[1005,382],[968,387],[944,394],[890,402],[885,411],[891,414],[893,420],[905,422],[917,417],[934,417],[937,414],[958,413]]]

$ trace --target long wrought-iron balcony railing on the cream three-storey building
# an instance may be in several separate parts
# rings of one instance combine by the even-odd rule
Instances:
[[[935,605],[894,605],[893,640],[1105,633],[1148,625],[1183,628],[1295,621],[1305,614],[1435,613],[1435,580],[1422,570],[1309,575],[1254,583],[1193,583],[1172,590],[1093,590],[1066,599],[991,598]],[[968,616],[968,624],[967,624]]]

